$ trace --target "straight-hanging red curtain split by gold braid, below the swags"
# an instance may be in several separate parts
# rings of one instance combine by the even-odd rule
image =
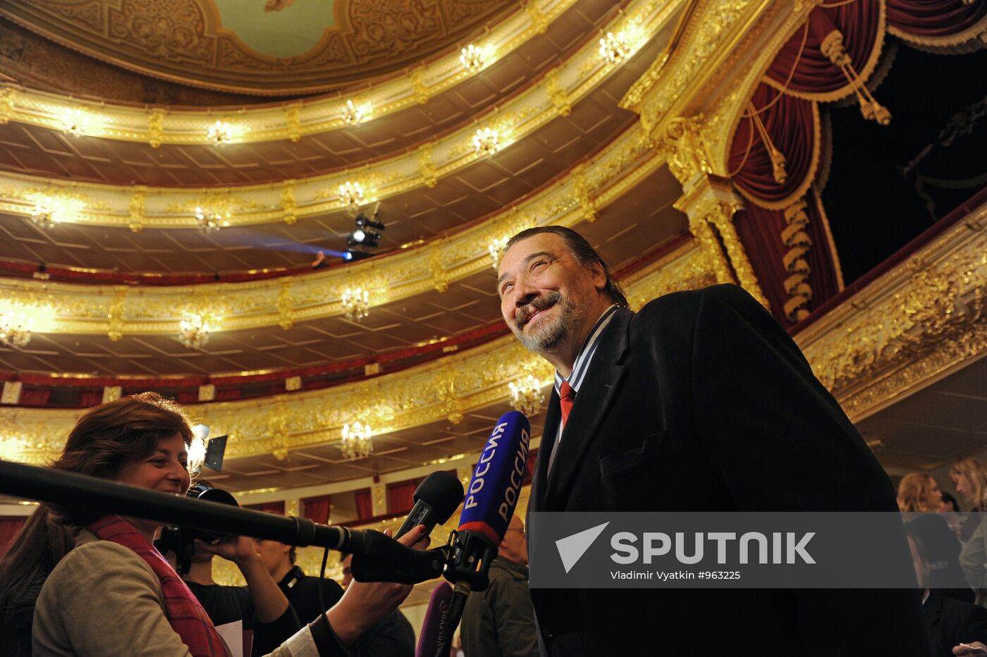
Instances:
[[[810,191],[805,198],[805,213],[809,220],[805,232],[812,240],[812,246],[803,256],[811,269],[807,281],[812,288],[809,311],[839,292],[828,233],[814,194],[814,191]],[[761,289],[771,303],[772,314],[783,327],[792,326],[794,323],[784,312],[785,304],[791,298],[784,285],[789,276],[783,265],[783,257],[789,247],[785,246],[781,238],[782,230],[788,226],[785,211],[768,210],[750,203],[733,215],[733,225],[747,251]]]

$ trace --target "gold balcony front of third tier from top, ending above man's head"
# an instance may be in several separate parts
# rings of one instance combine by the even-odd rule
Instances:
[[[371,305],[405,299],[431,288],[442,289],[490,267],[489,245],[536,225],[573,226],[586,218],[587,207],[600,208],[657,170],[663,160],[638,126],[627,130],[579,170],[517,207],[505,208],[488,221],[427,247],[388,255],[387,277],[376,274],[376,262],[355,262],[295,278],[248,283],[134,288],[114,312],[114,286],[77,285],[0,278],[0,295],[31,307],[50,309],[53,317],[36,323],[38,332],[177,334],[187,312],[217,318],[218,330],[291,326],[295,322],[342,315],[342,292],[350,287],[371,290]],[[577,186],[578,181],[578,186]],[[278,192],[294,186],[287,182]],[[215,202],[243,202],[223,194]],[[130,200],[132,202],[132,199]],[[211,202],[199,198],[197,202]],[[427,272],[427,275],[425,275]],[[129,288],[128,288],[129,289]],[[195,295],[204,308],[188,308]]]

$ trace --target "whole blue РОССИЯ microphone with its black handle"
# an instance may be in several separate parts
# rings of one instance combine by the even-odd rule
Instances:
[[[504,413],[487,439],[463,501],[463,513],[443,576],[453,584],[452,600],[435,655],[452,644],[470,591],[484,591],[496,548],[507,532],[528,462],[531,424],[516,410]]]

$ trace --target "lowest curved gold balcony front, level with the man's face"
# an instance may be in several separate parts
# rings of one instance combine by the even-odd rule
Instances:
[[[652,294],[710,282],[706,260],[695,244],[688,243],[637,273],[627,289],[631,298],[644,303]],[[230,435],[228,457],[284,454],[291,448],[339,440],[342,425],[354,417],[373,417],[378,433],[457,421],[467,412],[507,400],[512,381],[529,375],[548,380],[552,374],[547,361],[508,335],[403,372],[328,391],[204,403],[189,409],[216,435]],[[0,408],[4,458],[44,462],[60,451],[81,412]]]

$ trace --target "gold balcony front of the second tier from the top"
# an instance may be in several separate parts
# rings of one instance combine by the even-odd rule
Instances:
[[[679,1],[634,0],[624,16],[629,17],[629,21],[636,20],[645,35],[645,38],[635,42],[635,49],[661,33],[665,23],[674,16]],[[588,65],[588,69],[583,74],[580,71],[585,68],[584,64]],[[556,80],[569,103],[574,104],[586,98],[618,69],[603,62],[596,45],[591,42],[556,69]],[[547,86],[544,81],[533,86],[504,107],[486,115],[482,125],[498,129],[502,143],[523,139],[565,110],[565,106],[562,109],[557,107],[558,98],[553,100]],[[299,179],[292,183],[293,205],[290,208],[284,205],[280,182],[237,186],[236,202],[232,203],[232,213],[226,223],[245,226],[282,221],[286,216],[301,219],[343,209],[348,206],[348,199],[343,198],[338,189],[346,182],[360,183],[367,189],[368,197],[374,199],[433,186],[439,177],[449,176],[486,157],[473,144],[476,129],[477,125],[474,124],[463,126],[420,147],[418,151],[373,163],[358,172],[343,171]],[[196,227],[197,222],[190,208],[201,205],[202,197],[223,193],[222,188],[142,187],[144,210],[139,220],[135,221],[129,206],[129,200],[137,190],[135,186],[97,183],[68,185],[49,179],[0,173],[0,210],[30,215],[33,205],[25,202],[24,192],[39,186],[52,189],[71,186],[94,199],[76,216],[66,219],[71,223],[94,226],[131,226],[139,223],[144,228],[161,229]]]

